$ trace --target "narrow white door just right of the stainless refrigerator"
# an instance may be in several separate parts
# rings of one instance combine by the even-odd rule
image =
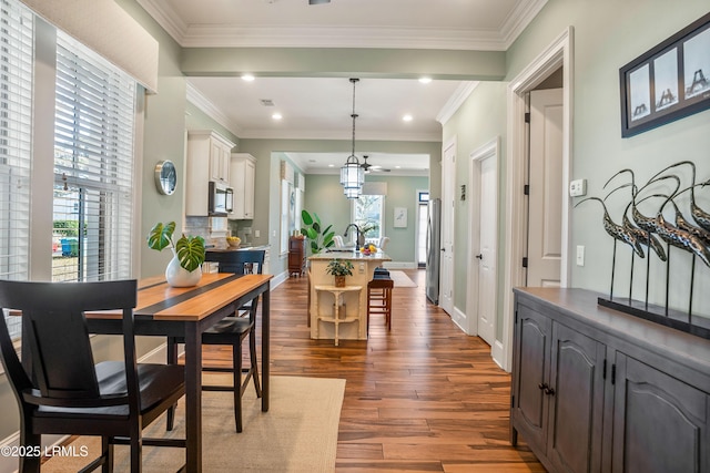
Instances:
[[[454,177],[456,140],[444,148],[442,160],[442,260],[439,270],[439,306],[454,312]]]

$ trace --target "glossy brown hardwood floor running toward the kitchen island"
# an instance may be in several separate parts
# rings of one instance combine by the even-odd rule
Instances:
[[[418,287],[394,289],[392,331],[374,316],[368,340],[339,347],[310,338],[305,277],[272,292],[272,373],[346,380],[336,471],[544,472],[509,444],[510,377],[490,347],[426,300],[423,270],[405,273]]]

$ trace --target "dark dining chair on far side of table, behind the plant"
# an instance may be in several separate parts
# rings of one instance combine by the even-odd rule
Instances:
[[[265,250],[230,250],[206,251],[205,261],[217,263],[220,273],[234,273],[237,275],[263,274]],[[248,387],[250,380],[254,381],[256,397],[262,397],[262,388],[258,379],[258,366],[256,360],[256,310],[258,297],[240,307],[234,317],[225,317],[202,333],[202,345],[221,345],[232,347],[232,367],[202,367],[203,371],[233,373],[232,385],[203,384],[203,391],[232,391],[234,393],[234,422],[236,431],[242,432],[242,395]],[[243,317],[241,317],[243,315]],[[248,368],[243,368],[242,341],[248,336]],[[178,362],[178,343],[183,340],[170,337],[168,339],[168,359]],[[172,429],[174,408],[168,412],[168,429]]]

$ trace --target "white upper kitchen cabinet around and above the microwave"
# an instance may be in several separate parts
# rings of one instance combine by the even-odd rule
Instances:
[[[211,130],[187,132],[185,214],[209,215],[210,181],[230,185],[234,143]]]

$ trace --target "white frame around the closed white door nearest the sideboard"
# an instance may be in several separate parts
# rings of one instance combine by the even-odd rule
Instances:
[[[479,277],[478,277],[478,261],[476,261],[476,255],[479,253],[480,248],[480,208],[484,203],[480,200],[480,163],[484,160],[494,160],[495,168],[496,168],[496,202],[494,203],[495,212],[494,215],[499,215],[499,193],[498,193],[498,183],[500,179],[500,136],[496,136],[494,140],[489,141],[485,145],[478,147],[476,151],[470,153],[469,161],[469,191],[470,195],[470,204],[468,206],[468,275],[467,280],[469,281],[468,287],[470,290],[467,291],[466,296],[466,332],[470,336],[478,335],[478,289],[479,289]],[[486,203],[489,205],[489,203]],[[498,233],[499,222],[496,219],[495,223],[495,238],[494,245],[495,250],[494,255],[496,256],[496,264],[494,270],[494,310],[493,313],[498,312]],[[494,320],[494,337],[498,326],[498,317],[495,317]],[[503,352],[503,343],[499,340],[495,340],[491,343],[491,354],[495,352]],[[495,358],[495,357],[494,357]]]

